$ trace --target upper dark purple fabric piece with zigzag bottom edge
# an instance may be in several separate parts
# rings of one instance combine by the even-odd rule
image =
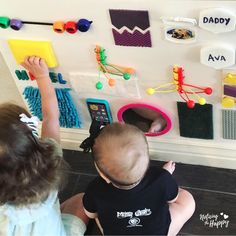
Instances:
[[[116,28],[120,29],[126,26],[133,30],[135,26],[142,30],[150,27],[148,11],[134,11],[134,10],[109,10],[111,23]]]

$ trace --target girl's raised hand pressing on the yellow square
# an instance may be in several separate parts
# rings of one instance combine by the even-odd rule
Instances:
[[[28,70],[36,79],[40,77],[48,77],[48,66],[44,59],[36,56],[26,57],[21,64],[26,70]]]

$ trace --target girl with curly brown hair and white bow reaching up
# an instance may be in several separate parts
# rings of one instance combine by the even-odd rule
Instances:
[[[22,66],[36,78],[42,101],[42,131],[37,117],[14,104],[0,106],[0,235],[83,235],[88,221],[82,195],[63,204],[58,189],[67,168],[59,147],[59,111],[48,67],[39,57]],[[71,205],[74,205],[73,209]]]

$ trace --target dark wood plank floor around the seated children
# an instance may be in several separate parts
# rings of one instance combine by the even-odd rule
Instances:
[[[90,154],[64,150],[64,158],[71,169],[69,182],[59,195],[61,202],[85,191],[97,176]],[[163,162],[151,161],[151,165],[162,166]],[[196,201],[196,211],[182,235],[236,235],[236,170],[177,163],[174,177]],[[86,234],[99,234],[94,222]]]

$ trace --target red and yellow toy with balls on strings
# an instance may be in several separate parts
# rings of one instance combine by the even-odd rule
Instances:
[[[189,95],[193,95],[198,99],[200,105],[206,104],[206,99],[200,97],[198,94],[205,93],[210,95],[212,88],[210,87],[199,87],[191,84],[184,83],[184,70],[182,67],[175,65],[173,67],[173,82],[162,84],[156,88],[148,88],[147,94],[152,95],[154,93],[171,93],[177,92],[179,96],[187,103],[188,108],[194,108],[195,102]]]

